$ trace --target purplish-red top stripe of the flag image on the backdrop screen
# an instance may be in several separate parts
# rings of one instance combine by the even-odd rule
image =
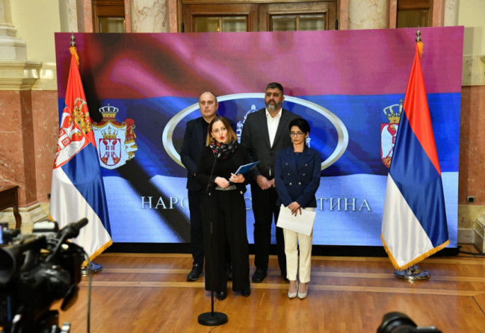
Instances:
[[[421,32],[427,93],[460,92],[461,77],[452,75],[461,75],[464,27]],[[274,81],[288,87],[285,94],[290,96],[402,93],[415,33],[416,28],[402,28],[75,37],[83,83],[93,85],[102,99],[196,97],[206,90],[218,96],[261,92]],[[69,70],[70,36],[55,34],[60,98]]]

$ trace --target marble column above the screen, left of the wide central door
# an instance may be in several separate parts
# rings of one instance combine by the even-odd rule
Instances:
[[[168,33],[167,0],[132,0],[132,33]]]

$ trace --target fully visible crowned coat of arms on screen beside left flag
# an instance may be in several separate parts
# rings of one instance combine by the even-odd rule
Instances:
[[[126,118],[122,123],[116,120],[118,108],[109,104],[99,109],[103,120],[93,123],[94,138],[98,148],[100,165],[106,169],[116,169],[134,158],[136,135],[134,120]]]

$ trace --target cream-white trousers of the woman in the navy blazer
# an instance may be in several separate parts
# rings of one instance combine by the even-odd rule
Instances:
[[[315,208],[304,208],[306,210],[315,210]],[[302,283],[310,282],[310,264],[312,261],[312,238],[302,233],[283,229],[285,237],[285,255],[286,255],[286,278],[290,281],[297,280],[299,270],[299,280]],[[298,248],[300,247],[300,264],[298,264]]]

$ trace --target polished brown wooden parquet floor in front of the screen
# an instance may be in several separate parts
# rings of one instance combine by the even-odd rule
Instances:
[[[92,278],[93,333],[376,332],[394,311],[441,332],[485,332],[485,258],[464,253],[424,260],[418,266],[431,278],[416,282],[395,278],[388,258],[314,256],[305,300],[288,299],[271,257],[267,278],[252,283],[251,296],[233,294],[229,282],[227,298],[215,300],[215,311],[229,318],[217,327],[197,323],[211,311],[211,294],[202,278],[186,282],[190,255],[104,253],[95,262],[103,271]],[[87,286],[83,278],[76,303],[60,312],[73,333],[87,332]]]

